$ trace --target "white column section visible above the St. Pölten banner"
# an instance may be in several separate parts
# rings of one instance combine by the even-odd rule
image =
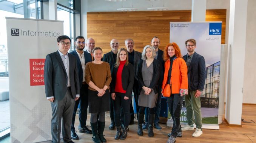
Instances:
[[[206,0],[192,0],[191,21],[205,21]]]

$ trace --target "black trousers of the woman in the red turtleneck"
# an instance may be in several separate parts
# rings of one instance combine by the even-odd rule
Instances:
[[[114,120],[116,123],[116,126],[120,126],[120,107],[122,106],[123,109],[123,115],[124,115],[124,125],[129,126],[130,123],[130,104],[131,104],[131,99],[129,98],[127,100],[123,99],[125,96],[125,93],[119,93],[116,92],[116,99],[113,100],[114,104]]]

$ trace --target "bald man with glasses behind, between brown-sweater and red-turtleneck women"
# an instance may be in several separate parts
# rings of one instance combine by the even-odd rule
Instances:
[[[113,73],[113,69],[116,63],[116,56],[117,56],[117,52],[118,52],[118,48],[119,48],[119,42],[117,39],[112,39],[110,42],[110,47],[111,47],[111,51],[104,54],[103,56],[103,61],[104,62],[108,62],[109,66],[110,66],[110,71],[111,71],[111,75]],[[115,121],[114,121],[114,107],[113,107],[113,99],[111,98],[111,96],[109,96],[109,100],[110,100],[110,110],[109,110],[109,114],[110,114],[110,119],[111,119],[111,123],[109,125],[109,129],[113,130],[115,128]]]

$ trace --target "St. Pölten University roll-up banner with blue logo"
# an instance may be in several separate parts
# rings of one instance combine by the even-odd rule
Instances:
[[[181,54],[186,55],[185,41],[196,40],[196,53],[204,56],[206,67],[205,87],[200,96],[202,128],[219,129],[219,77],[221,60],[222,22],[170,22],[170,42],[179,45]],[[223,95],[221,95],[223,96]],[[181,123],[187,123],[185,101],[180,114]],[[167,126],[172,126],[169,113]],[[195,125],[194,125],[195,126]]]

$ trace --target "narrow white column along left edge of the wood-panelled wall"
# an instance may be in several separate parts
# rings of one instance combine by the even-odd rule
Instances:
[[[88,0],[81,0],[81,32],[82,32],[81,34],[85,38],[85,41],[87,39],[87,11],[88,11]]]

